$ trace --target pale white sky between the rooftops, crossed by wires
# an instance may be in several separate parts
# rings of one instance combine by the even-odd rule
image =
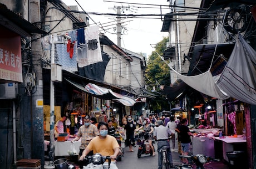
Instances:
[[[165,14],[169,13],[169,2],[167,0],[76,0],[86,12],[113,13],[116,14],[117,7],[121,7],[121,14]],[[62,0],[67,6],[78,6],[75,0]],[[129,2],[129,3],[127,3]],[[134,3],[134,4],[132,4]],[[164,5],[149,6],[146,4]],[[79,11],[82,9],[78,6]],[[100,29],[112,42],[117,44],[116,36],[116,16],[89,14],[89,17],[98,25],[105,29]],[[122,20],[122,27],[125,30],[121,35],[121,47],[135,53],[146,53],[150,55],[155,50],[155,44],[159,43],[164,37],[168,37],[168,32],[161,32],[163,21],[160,17],[157,19],[147,18],[126,18]],[[152,17],[151,17],[152,18]],[[89,20],[89,24],[95,24]]]

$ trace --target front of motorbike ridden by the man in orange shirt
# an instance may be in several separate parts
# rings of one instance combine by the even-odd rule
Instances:
[[[79,160],[81,169],[104,169],[103,163],[108,160],[109,166],[111,163],[110,156],[102,156],[100,153],[95,153],[93,156],[86,156],[83,160]]]

